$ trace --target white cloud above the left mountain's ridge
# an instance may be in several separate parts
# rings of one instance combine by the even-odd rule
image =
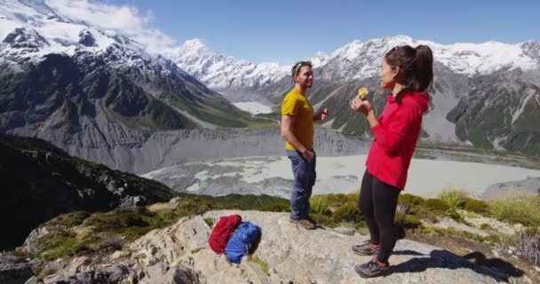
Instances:
[[[128,5],[102,4],[90,0],[47,0],[60,15],[71,20],[81,20],[92,27],[113,29],[142,43],[147,51],[157,53],[176,45],[176,41],[161,30],[152,27],[154,13],[139,12]]]

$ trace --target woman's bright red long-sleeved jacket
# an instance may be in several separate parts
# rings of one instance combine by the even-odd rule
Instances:
[[[389,96],[383,113],[377,118],[378,124],[371,128],[375,140],[369,148],[366,167],[385,184],[405,188],[428,101],[427,93],[423,92],[403,94],[401,104]]]

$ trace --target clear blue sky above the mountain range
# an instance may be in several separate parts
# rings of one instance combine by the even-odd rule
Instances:
[[[540,0],[91,2],[131,6],[176,44],[200,38],[212,50],[253,62],[290,64],[382,36],[444,44],[540,42]]]

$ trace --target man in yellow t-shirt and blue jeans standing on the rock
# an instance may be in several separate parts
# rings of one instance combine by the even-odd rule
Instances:
[[[309,198],[315,184],[316,155],[314,151],[314,121],[328,117],[326,111],[314,115],[314,108],[306,97],[314,81],[310,61],[299,61],[291,69],[295,86],[282,103],[282,137],[292,165],[294,184],[290,191],[290,221],[308,230],[315,228],[309,217]]]

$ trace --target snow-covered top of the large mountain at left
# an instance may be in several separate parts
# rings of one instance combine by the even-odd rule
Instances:
[[[66,20],[44,1],[0,0],[0,56],[12,64],[44,59],[51,53],[103,54],[112,45],[152,58],[142,44],[113,30],[101,30]]]

